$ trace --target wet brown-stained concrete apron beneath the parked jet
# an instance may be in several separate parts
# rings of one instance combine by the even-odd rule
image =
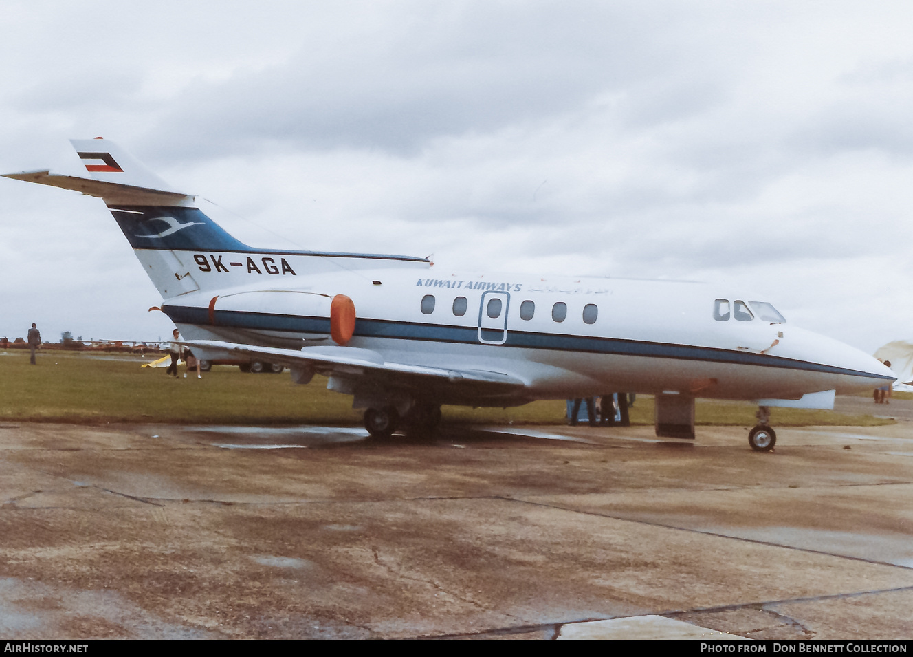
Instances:
[[[909,422],[0,423],[0,638],[909,639],[911,499]]]

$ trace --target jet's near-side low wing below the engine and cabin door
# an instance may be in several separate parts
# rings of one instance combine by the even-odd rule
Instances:
[[[289,367],[310,369],[320,374],[341,375],[383,375],[384,378],[404,384],[420,385],[424,382],[440,381],[450,384],[476,384],[493,388],[490,392],[517,390],[525,387],[525,381],[503,372],[477,369],[443,369],[405,363],[385,361],[383,356],[370,349],[349,346],[306,346],[300,350],[278,347],[236,344],[217,340],[185,340],[181,344],[217,351],[243,358],[262,358],[270,363]]]

